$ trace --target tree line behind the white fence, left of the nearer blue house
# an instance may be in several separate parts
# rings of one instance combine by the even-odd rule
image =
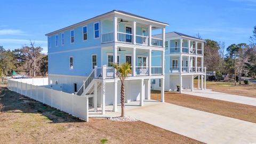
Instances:
[[[48,58],[42,50],[42,47],[35,46],[32,41],[29,46],[25,45],[12,51],[0,46],[0,76],[12,75],[13,72],[25,73],[31,77],[46,76]]]

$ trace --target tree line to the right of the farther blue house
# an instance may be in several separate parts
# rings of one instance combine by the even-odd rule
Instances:
[[[242,76],[256,76],[256,26],[249,44],[231,44],[226,48],[225,43],[205,39],[204,66],[207,70],[216,71],[217,77],[221,75],[238,77],[241,83]]]

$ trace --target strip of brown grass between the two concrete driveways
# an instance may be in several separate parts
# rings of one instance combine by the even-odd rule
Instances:
[[[151,99],[161,100],[161,92],[151,91]],[[174,92],[165,92],[165,102],[256,123],[255,106]]]

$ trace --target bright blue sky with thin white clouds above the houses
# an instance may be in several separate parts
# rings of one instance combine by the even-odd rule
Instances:
[[[46,33],[111,10],[123,10],[169,23],[178,31],[226,43],[249,43],[256,26],[256,0],[222,1],[11,1],[2,0],[0,45],[17,49],[29,39],[47,53]]]

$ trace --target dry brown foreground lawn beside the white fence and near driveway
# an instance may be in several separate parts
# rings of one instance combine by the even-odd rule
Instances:
[[[0,143],[201,143],[143,122],[81,121],[0,86]]]

